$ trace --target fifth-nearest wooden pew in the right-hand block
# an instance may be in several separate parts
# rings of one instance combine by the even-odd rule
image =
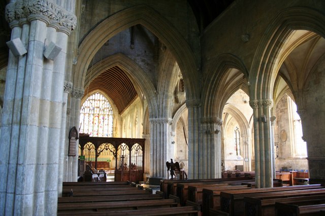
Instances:
[[[248,185],[229,185],[228,187],[224,187],[222,189],[230,189],[230,190],[237,190],[237,189],[247,189],[249,188]],[[189,201],[192,202],[196,202],[196,203],[202,203],[202,196],[203,196],[203,189],[206,190],[216,190],[216,189],[220,189],[220,187],[214,187],[213,185],[199,185],[199,186],[188,186],[187,188],[187,194],[188,197],[187,199]]]

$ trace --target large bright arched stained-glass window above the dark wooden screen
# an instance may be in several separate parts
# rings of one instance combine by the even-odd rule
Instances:
[[[79,133],[90,137],[113,136],[113,110],[99,92],[89,96],[81,106]]]

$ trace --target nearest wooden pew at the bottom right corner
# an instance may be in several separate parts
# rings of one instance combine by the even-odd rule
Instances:
[[[325,215],[323,210],[325,210],[325,204],[316,205],[292,205],[287,203],[275,203],[275,215],[286,215],[286,216],[317,216]]]

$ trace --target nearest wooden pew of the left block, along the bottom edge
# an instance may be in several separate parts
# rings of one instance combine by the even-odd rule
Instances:
[[[146,216],[156,216],[156,215],[173,215],[173,216],[200,216],[201,213],[193,206],[179,206],[179,207],[170,207],[170,208],[152,208],[149,211],[145,210],[121,210],[121,211],[96,211],[96,212],[80,212],[80,213],[59,213],[58,215],[75,215],[75,216],[124,216],[124,215],[146,215]]]

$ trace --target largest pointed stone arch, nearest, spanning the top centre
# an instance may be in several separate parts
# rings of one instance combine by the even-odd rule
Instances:
[[[141,24],[155,34],[171,50],[181,71],[184,73],[185,88],[189,97],[199,98],[197,91],[199,76],[197,59],[187,41],[163,16],[152,8],[139,5],[122,10],[98,24],[81,42],[78,62],[74,67],[74,84],[82,87],[88,65],[96,52],[116,33],[131,26]],[[168,29],[168,30],[166,30]],[[152,109],[152,107],[151,107]],[[153,111],[151,110],[150,111]]]

